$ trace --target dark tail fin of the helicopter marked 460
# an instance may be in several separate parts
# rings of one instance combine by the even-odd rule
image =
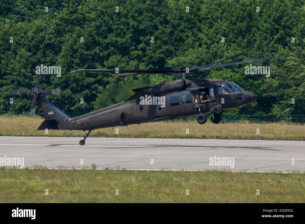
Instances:
[[[53,130],[70,130],[72,129],[68,115],[62,112],[58,107],[52,104],[44,97],[37,99],[40,116],[45,120],[40,124],[37,130],[53,129]]]

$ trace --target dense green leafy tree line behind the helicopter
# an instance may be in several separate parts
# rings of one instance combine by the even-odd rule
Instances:
[[[2,0],[0,15],[0,111],[29,110],[26,95],[9,103],[11,90],[32,89],[41,64],[61,66],[60,77],[42,76],[41,89],[61,89],[60,97],[48,98],[65,112],[81,113],[105,105],[105,96],[125,96],[126,88],[108,92],[120,83],[151,84],[177,75],[119,79],[111,73],[69,73],[75,69],[199,66],[252,51],[236,61],[294,57],[253,62],[270,66],[269,77],[245,74],[244,64],[191,73],[191,78],[203,73],[258,94],[255,103],[235,112],[305,114],[303,1]]]

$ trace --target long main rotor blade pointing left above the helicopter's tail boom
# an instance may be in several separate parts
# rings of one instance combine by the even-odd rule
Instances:
[[[171,74],[179,73],[174,69],[78,69],[73,72],[110,72],[110,73],[140,73],[140,74]],[[70,73],[73,73],[70,72]],[[136,74],[135,74],[136,75]]]

